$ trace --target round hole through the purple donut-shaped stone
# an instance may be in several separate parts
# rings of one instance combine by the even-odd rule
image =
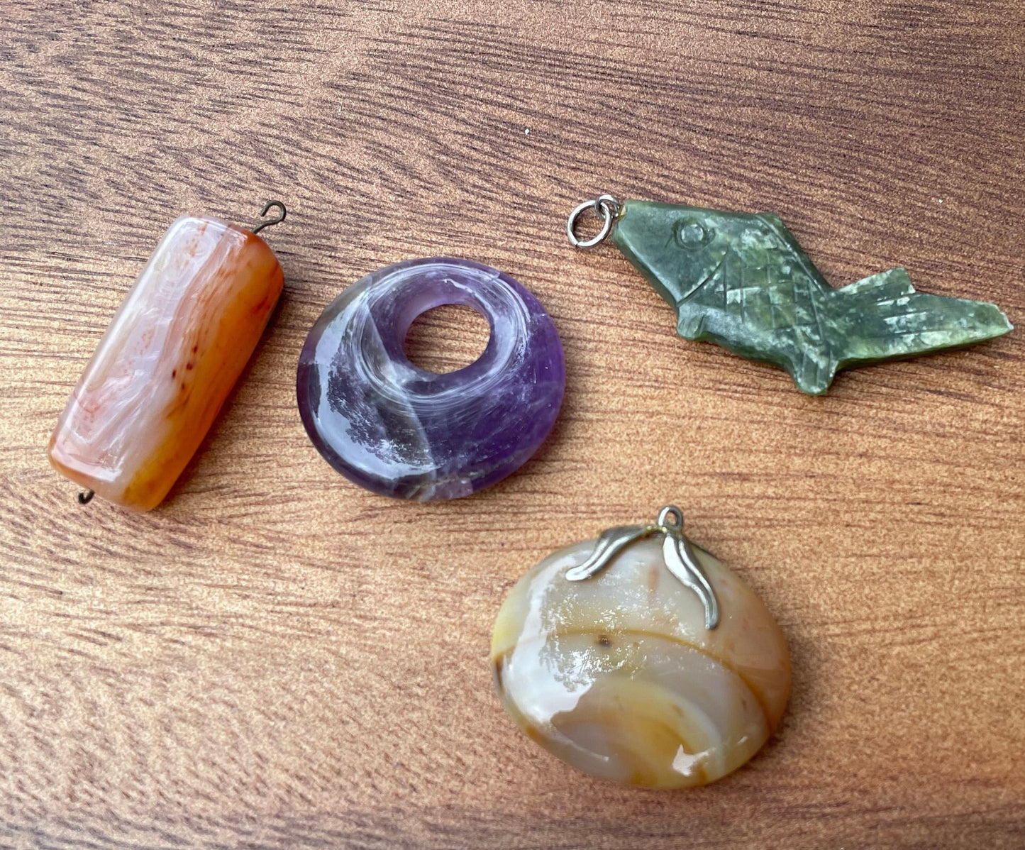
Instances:
[[[488,347],[491,328],[480,313],[447,303],[416,317],[406,333],[406,357],[428,372],[445,374],[478,360]]]

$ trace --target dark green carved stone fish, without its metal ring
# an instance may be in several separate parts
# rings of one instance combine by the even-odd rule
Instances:
[[[995,305],[915,292],[904,269],[834,289],[768,212],[625,201],[612,241],[676,311],[681,336],[774,363],[814,395],[849,366],[1012,329]]]

